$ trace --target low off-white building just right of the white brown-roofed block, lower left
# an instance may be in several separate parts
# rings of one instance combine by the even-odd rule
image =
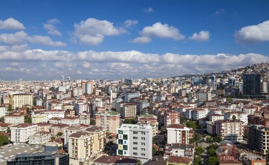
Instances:
[[[36,133],[29,136],[29,145],[45,145],[46,142],[51,140],[50,133]]]

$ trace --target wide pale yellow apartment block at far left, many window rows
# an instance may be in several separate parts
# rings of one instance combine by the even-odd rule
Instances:
[[[25,105],[33,106],[32,94],[14,94],[10,96],[10,100],[13,109],[22,108]]]

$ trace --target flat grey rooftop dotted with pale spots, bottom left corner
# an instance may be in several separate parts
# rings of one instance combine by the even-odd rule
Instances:
[[[44,150],[43,147],[22,144],[15,145],[12,144],[0,147],[0,165],[7,164],[8,159],[12,159],[16,154],[29,154],[36,151]]]

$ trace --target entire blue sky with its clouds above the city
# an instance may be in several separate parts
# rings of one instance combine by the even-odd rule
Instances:
[[[268,1],[0,1],[0,78],[167,77],[269,61]]]

